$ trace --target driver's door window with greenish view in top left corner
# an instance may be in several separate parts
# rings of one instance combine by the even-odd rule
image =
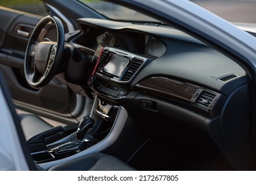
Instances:
[[[47,15],[47,11],[41,0],[1,0],[0,6],[41,16]]]

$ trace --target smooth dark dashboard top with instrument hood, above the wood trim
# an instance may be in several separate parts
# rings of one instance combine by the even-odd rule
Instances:
[[[134,78],[132,87],[145,78],[163,76],[230,93],[232,89],[225,89],[230,88],[229,81],[219,79],[233,74],[236,78],[246,75],[234,60],[174,28],[93,18],[80,18],[78,22],[89,40],[86,47],[95,50],[103,45],[150,58]]]

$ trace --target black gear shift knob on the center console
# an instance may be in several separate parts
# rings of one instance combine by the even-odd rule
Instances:
[[[76,131],[76,138],[78,141],[82,141],[84,139],[84,136],[86,135],[86,132],[90,127],[93,127],[94,120],[88,116],[85,116],[82,118],[78,124],[78,129]]]

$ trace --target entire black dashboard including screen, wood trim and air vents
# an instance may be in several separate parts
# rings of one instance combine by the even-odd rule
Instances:
[[[248,82],[234,60],[174,28],[93,18],[78,22],[82,31],[72,43],[91,53],[90,88],[110,103],[136,92],[217,117],[227,97]],[[149,110],[156,106],[141,103]]]

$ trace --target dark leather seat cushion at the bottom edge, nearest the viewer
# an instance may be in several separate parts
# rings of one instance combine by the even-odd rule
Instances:
[[[74,158],[62,164],[53,166],[51,171],[132,171],[134,168],[122,162],[115,156],[101,152]]]

